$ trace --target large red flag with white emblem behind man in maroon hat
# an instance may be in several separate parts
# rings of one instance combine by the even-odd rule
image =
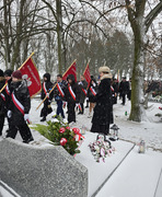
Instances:
[[[22,72],[22,78],[27,81],[31,97],[37,94],[42,90],[42,84],[33,59],[28,58],[19,70]]]

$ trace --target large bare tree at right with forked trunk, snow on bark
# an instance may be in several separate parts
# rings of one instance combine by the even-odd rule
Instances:
[[[129,119],[135,121],[141,121],[146,117],[143,109],[144,45],[147,44],[146,34],[153,20],[162,11],[162,1],[160,0],[144,18],[146,2],[146,0],[135,0],[134,2],[126,0],[128,20],[131,24],[135,40],[134,70],[131,78],[131,112],[129,116]]]

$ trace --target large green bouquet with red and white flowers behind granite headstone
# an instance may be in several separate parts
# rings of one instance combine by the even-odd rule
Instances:
[[[60,117],[47,121],[47,125],[36,124],[33,129],[39,131],[54,146],[62,146],[71,155],[80,153],[79,146],[84,137],[79,128],[70,128]]]

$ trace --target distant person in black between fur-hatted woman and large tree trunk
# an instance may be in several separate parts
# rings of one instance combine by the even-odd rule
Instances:
[[[123,105],[126,103],[126,94],[129,92],[129,83],[126,81],[126,77],[123,78],[121,82],[119,83],[119,93],[123,99]]]

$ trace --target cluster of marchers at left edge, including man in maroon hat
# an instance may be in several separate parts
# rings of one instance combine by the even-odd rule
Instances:
[[[9,129],[7,138],[15,138],[20,132],[23,142],[33,141],[31,129],[27,126],[31,109],[31,97],[25,80],[22,80],[20,70],[0,70],[0,136],[7,117]]]

